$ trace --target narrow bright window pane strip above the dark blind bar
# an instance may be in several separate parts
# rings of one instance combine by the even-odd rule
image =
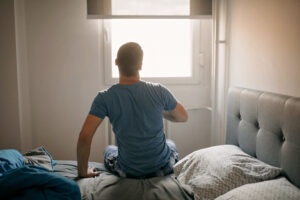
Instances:
[[[112,0],[113,15],[189,15],[190,0]]]

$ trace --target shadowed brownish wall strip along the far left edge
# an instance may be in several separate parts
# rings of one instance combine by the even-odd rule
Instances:
[[[0,1],[0,149],[20,150],[14,2]]]

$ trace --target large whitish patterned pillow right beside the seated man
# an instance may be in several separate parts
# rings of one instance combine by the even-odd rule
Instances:
[[[215,199],[238,186],[273,179],[280,172],[234,145],[195,151],[174,166],[179,182],[191,187],[196,200]]]

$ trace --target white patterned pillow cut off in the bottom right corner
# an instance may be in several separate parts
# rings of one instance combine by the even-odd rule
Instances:
[[[300,190],[282,177],[275,180],[243,185],[233,189],[216,200],[298,200]]]

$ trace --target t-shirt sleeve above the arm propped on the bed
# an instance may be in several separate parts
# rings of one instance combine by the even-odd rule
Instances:
[[[103,98],[103,94],[101,92],[99,92],[95,97],[89,114],[95,115],[96,117],[100,117],[102,119],[107,116],[107,107]]]

